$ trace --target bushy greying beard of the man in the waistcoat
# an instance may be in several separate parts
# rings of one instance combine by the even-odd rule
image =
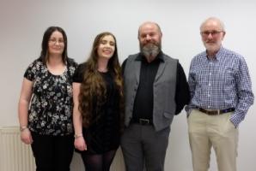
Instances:
[[[145,57],[155,57],[159,54],[161,50],[161,44],[156,45],[156,44],[146,44],[142,47],[140,44],[140,51],[143,53],[143,56]]]

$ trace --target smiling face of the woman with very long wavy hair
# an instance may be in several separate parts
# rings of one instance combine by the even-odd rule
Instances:
[[[116,43],[112,35],[102,37],[97,49],[99,59],[109,60],[115,51],[115,44]]]

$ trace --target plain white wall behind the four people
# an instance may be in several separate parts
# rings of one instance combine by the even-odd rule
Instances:
[[[83,62],[96,34],[113,32],[123,62],[137,53],[137,28],[143,21],[162,27],[162,49],[179,58],[188,74],[192,56],[204,50],[198,27],[216,16],[226,25],[223,45],[245,56],[255,92],[255,16],[253,0],[0,0],[0,127],[18,125],[17,102],[27,65],[40,55],[46,28],[63,27],[67,33],[69,56]],[[255,105],[241,123],[238,170],[256,170]],[[186,115],[174,118],[170,134],[166,170],[191,171]],[[210,171],[216,170],[212,160]]]

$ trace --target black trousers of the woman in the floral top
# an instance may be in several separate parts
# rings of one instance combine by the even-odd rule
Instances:
[[[74,137],[49,136],[32,133],[31,144],[36,171],[70,171],[74,151]]]

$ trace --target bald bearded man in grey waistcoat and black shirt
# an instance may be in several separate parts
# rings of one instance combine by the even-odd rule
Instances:
[[[155,22],[138,29],[140,53],[123,63],[125,132],[121,147],[126,171],[162,171],[170,124],[189,102],[186,75],[178,60],[162,52]]]

